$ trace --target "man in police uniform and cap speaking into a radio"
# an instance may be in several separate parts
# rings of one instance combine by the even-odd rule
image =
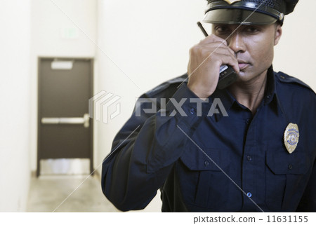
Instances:
[[[272,69],[297,1],[209,0],[212,34],[190,49],[187,74],[140,97],[103,163],[119,210],[160,189],[162,212],[316,211],[316,95]],[[220,90],[223,64],[237,81]]]

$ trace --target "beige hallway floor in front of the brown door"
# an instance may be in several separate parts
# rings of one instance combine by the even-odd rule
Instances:
[[[160,212],[157,195],[145,210]],[[27,212],[120,212],[105,198],[100,179],[87,175],[41,175],[32,178]]]

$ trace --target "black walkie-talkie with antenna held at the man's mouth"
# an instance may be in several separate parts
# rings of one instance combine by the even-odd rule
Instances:
[[[197,22],[197,25],[202,30],[205,36],[209,36],[209,34],[207,34],[204,27],[202,26],[201,22]],[[237,80],[237,74],[231,66],[225,65],[225,64],[220,66],[220,75],[219,75],[218,83],[217,83],[218,89],[227,88],[236,80]]]

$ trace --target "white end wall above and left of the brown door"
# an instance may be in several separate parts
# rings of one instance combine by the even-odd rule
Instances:
[[[38,57],[94,57],[97,18],[96,0],[31,0],[31,3],[31,168],[35,171],[37,170],[37,59]],[[62,34],[65,29],[72,30],[75,35],[65,38]]]

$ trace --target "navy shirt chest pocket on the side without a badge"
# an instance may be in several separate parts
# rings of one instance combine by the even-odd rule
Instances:
[[[237,186],[230,180],[230,157],[225,149],[192,147],[185,151],[180,161],[187,170],[183,177],[183,198],[195,210],[202,212],[232,212],[240,210],[239,203],[233,196]],[[194,177],[191,179],[190,177]],[[188,188],[190,187],[190,188]],[[237,195],[241,196],[240,191]]]

